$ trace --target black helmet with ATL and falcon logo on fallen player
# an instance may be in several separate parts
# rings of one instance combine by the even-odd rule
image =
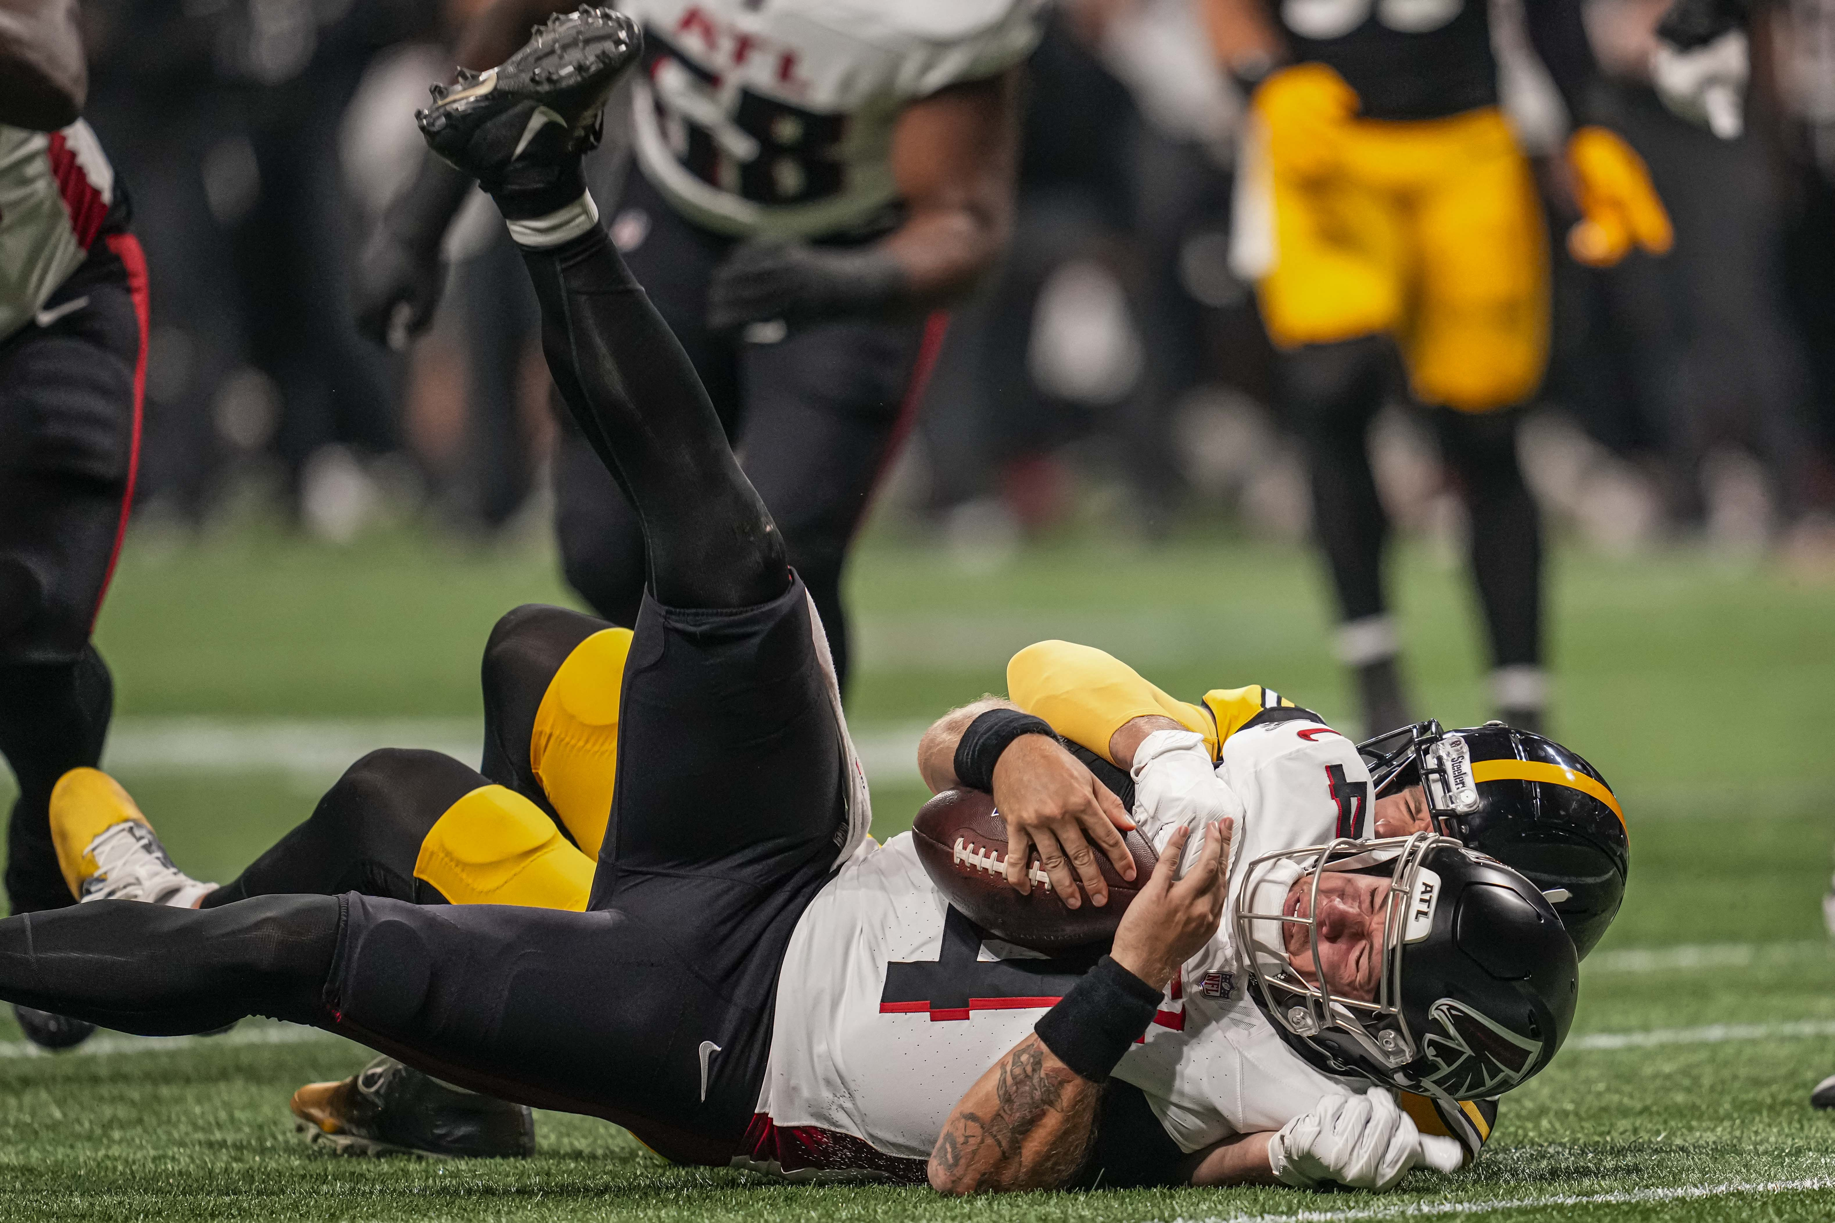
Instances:
[[[1294,887],[1356,871],[1387,880],[1382,975],[1374,999],[1334,994],[1294,966],[1286,926]],[[1308,884],[1310,880],[1310,884]],[[1237,946],[1257,1005],[1310,1065],[1446,1100],[1510,1091],[1567,1038],[1580,959],[1541,891],[1496,858],[1433,832],[1264,854],[1242,871]]]

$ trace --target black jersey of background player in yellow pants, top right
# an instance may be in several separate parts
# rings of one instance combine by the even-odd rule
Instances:
[[[1270,4],[1294,59],[1334,68],[1365,119],[1439,119],[1497,105],[1486,0]]]

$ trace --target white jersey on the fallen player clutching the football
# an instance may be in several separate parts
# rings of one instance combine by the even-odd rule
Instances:
[[[1367,834],[1369,774],[1356,746],[1318,722],[1237,732],[1217,772],[1244,805],[1233,876],[1264,853]],[[1171,827],[1162,845],[1165,836]],[[1286,1047],[1248,994],[1231,917],[1233,904],[1116,1067],[1185,1151],[1275,1129],[1321,1095],[1367,1085],[1329,1078]],[[930,884],[910,834],[855,854],[791,937],[740,1162],[813,1177],[929,1159],[956,1102],[1086,964],[984,939]]]

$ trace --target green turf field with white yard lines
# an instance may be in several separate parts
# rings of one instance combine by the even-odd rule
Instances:
[[[462,748],[492,620],[563,598],[543,554],[457,554],[411,534],[345,552],[255,528],[134,545],[101,627],[119,774],[178,862],[217,878],[303,818],[343,755],[378,735]],[[1459,574],[1413,554],[1402,578],[1422,704],[1481,719]],[[912,730],[998,691],[1006,656],[1040,636],[1112,649],[1182,695],[1268,682],[1349,713],[1316,574],[1290,550],[1066,543],[967,578],[938,552],[877,541],[853,589],[851,715],[883,834],[921,798],[899,755]],[[6,1023],[0,1219],[1831,1217],[1835,1117],[1806,1106],[1835,1071],[1835,957],[1817,908],[1835,838],[1831,612],[1835,587],[1769,568],[1560,554],[1556,733],[1624,799],[1631,893],[1587,963],[1569,1049],[1505,1102],[1490,1153],[1455,1177],[1415,1173],[1385,1197],[949,1203],[672,1170],[622,1131],[563,1115],[539,1117],[543,1153],[528,1162],[345,1161],[295,1139],[286,1096],[352,1073],[365,1060],[354,1045],[246,1023],[51,1058]]]

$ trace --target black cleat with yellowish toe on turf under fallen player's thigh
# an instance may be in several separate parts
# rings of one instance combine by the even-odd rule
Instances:
[[[536,1117],[521,1104],[477,1095],[395,1058],[376,1058],[336,1084],[294,1093],[294,1129],[338,1155],[527,1159]]]

